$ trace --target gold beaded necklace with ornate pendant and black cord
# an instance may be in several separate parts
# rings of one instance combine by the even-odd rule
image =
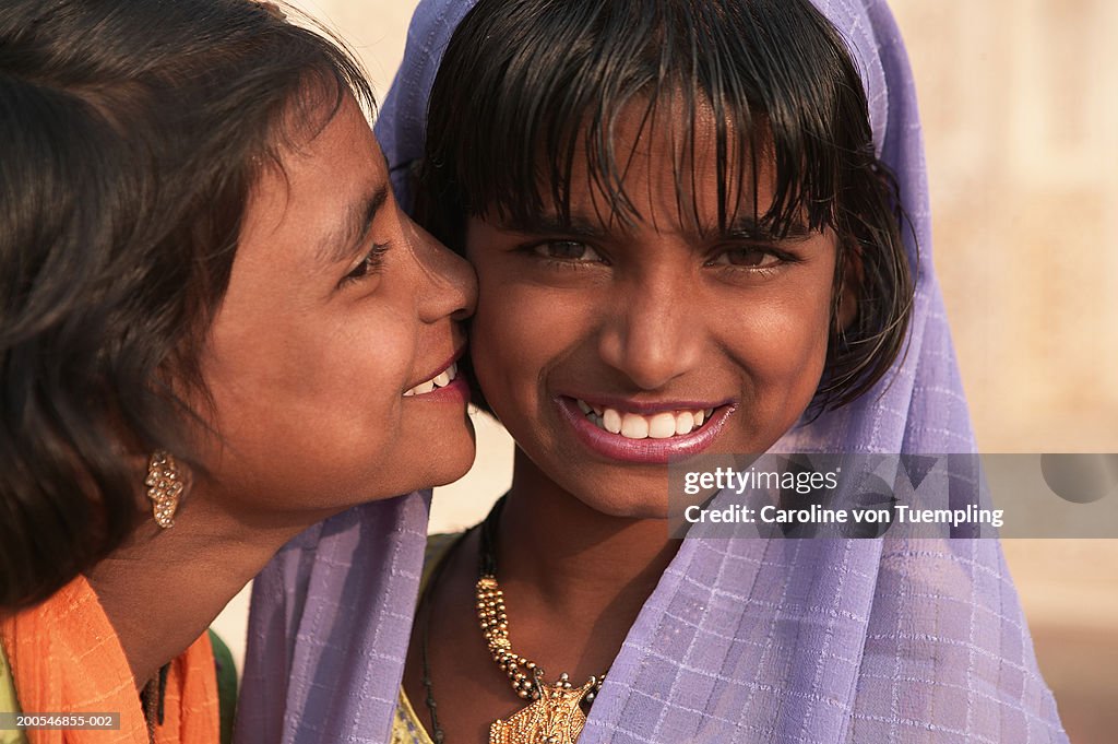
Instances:
[[[586,725],[582,706],[588,707],[594,701],[606,676],[591,676],[580,687],[571,684],[567,672],[559,675],[553,682],[546,682],[541,667],[512,650],[504,592],[496,583],[496,526],[502,507],[504,497],[498,500],[481,525],[481,567],[475,590],[477,620],[493,661],[509,677],[517,696],[531,700],[531,704],[508,718],[494,721],[490,726],[490,744],[575,744]],[[423,681],[427,689],[434,738],[442,744],[444,733],[435,715],[426,647],[425,632]]]

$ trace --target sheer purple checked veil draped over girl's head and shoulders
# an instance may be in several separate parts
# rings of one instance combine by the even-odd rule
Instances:
[[[846,38],[920,245],[911,345],[874,393],[775,449],[973,452],[931,267],[908,58],[880,0],[813,0]],[[442,51],[473,0],[424,0],[377,123],[419,158]],[[406,169],[401,169],[406,170]],[[404,204],[410,195],[395,183]],[[917,264],[915,246],[910,258]],[[423,553],[418,495],[285,547],[253,592],[238,742],[387,742]],[[686,539],[629,630],[580,744],[1065,742],[993,539]]]

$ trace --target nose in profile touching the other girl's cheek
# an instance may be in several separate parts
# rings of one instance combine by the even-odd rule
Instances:
[[[426,277],[426,291],[419,294],[419,318],[427,323],[446,317],[465,320],[477,304],[477,276],[465,258],[439,243],[410,218],[411,249]]]

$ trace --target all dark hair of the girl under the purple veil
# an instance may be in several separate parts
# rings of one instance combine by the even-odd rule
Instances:
[[[812,411],[866,394],[904,348],[910,227],[874,154],[854,62],[807,0],[479,0],[435,78],[414,164],[417,219],[459,253],[468,217],[533,224],[544,210],[569,220],[577,158],[612,216],[639,219],[624,186],[632,153],[616,152],[613,136],[633,105],[645,121],[683,112],[672,166],[681,214],[693,207],[688,156],[707,117],[720,229],[747,210],[776,238],[796,222],[836,233],[832,332]],[[756,204],[754,153],[773,161],[770,205]],[[843,328],[851,261],[858,310]]]

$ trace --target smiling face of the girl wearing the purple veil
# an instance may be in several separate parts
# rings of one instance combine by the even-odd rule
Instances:
[[[480,288],[471,348],[486,399],[529,467],[615,516],[666,515],[669,458],[766,451],[811,403],[826,357],[834,234],[761,235],[751,191],[736,195],[738,218],[719,230],[713,124],[697,125],[680,179],[676,128],[641,132],[636,115],[619,128],[635,225],[610,219],[576,166],[569,227],[549,214],[467,227]],[[682,198],[676,180],[690,188]],[[762,167],[760,214],[771,180]]]

